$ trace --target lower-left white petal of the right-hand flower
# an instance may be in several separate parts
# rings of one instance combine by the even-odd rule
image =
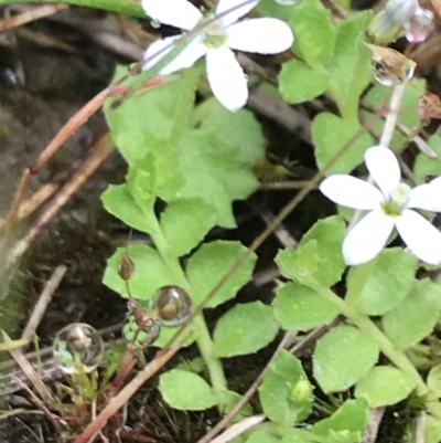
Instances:
[[[394,229],[394,219],[381,210],[366,214],[346,235],[343,256],[348,265],[373,260],[385,247]]]

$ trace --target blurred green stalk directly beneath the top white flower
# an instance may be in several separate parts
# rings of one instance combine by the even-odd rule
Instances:
[[[202,66],[197,65],[190,70],[185,70],[185,87],[179,97],[173,117],[173,129],[170,135],[170,144],[176,147],[181,140],[182,134],[189,125],[191,112],[196,96],[197,85],[202,73]]]

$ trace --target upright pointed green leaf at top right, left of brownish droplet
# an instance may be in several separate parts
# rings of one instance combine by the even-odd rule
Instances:
[[[338,23],[334,55],[325,64],[332,77],[330,93],[346,119],[357,118],[359,97],[373,77],[372,54],[364,44],[370,17],[372,12],[359,12]]]

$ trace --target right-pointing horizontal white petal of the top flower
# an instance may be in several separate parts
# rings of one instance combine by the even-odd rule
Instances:
[[[294,41],[291,28],[278,19],[252,19],[232,24],[227,46],[259,54],[277,54],[289,50]]]

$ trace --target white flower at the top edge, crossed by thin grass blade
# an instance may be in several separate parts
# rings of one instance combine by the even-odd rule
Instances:
[[[245,0],[219,0],[216,14],[226,13],[201,30],[198,35],[160,72],[161,75],[168,75],[193,66],[205,55],[212,91],[232,112],[245,106],[248,99],[247,77],[232,50],[276,54],[291,48],[293,42],[291,29],[281,20],[261,18],[237,22],[256,7],[258,0],[248,1],[245,6],[241,3],[245,3]],[[194,29],[203,19],[202,13],[186,0],[142,0],[142,8],[151,19],[185,31]],[[165,56],[171,48],[150,60],[158,51],[180,36],[153,42],[144,53],[147,63],[143,68],[150,68]]]

